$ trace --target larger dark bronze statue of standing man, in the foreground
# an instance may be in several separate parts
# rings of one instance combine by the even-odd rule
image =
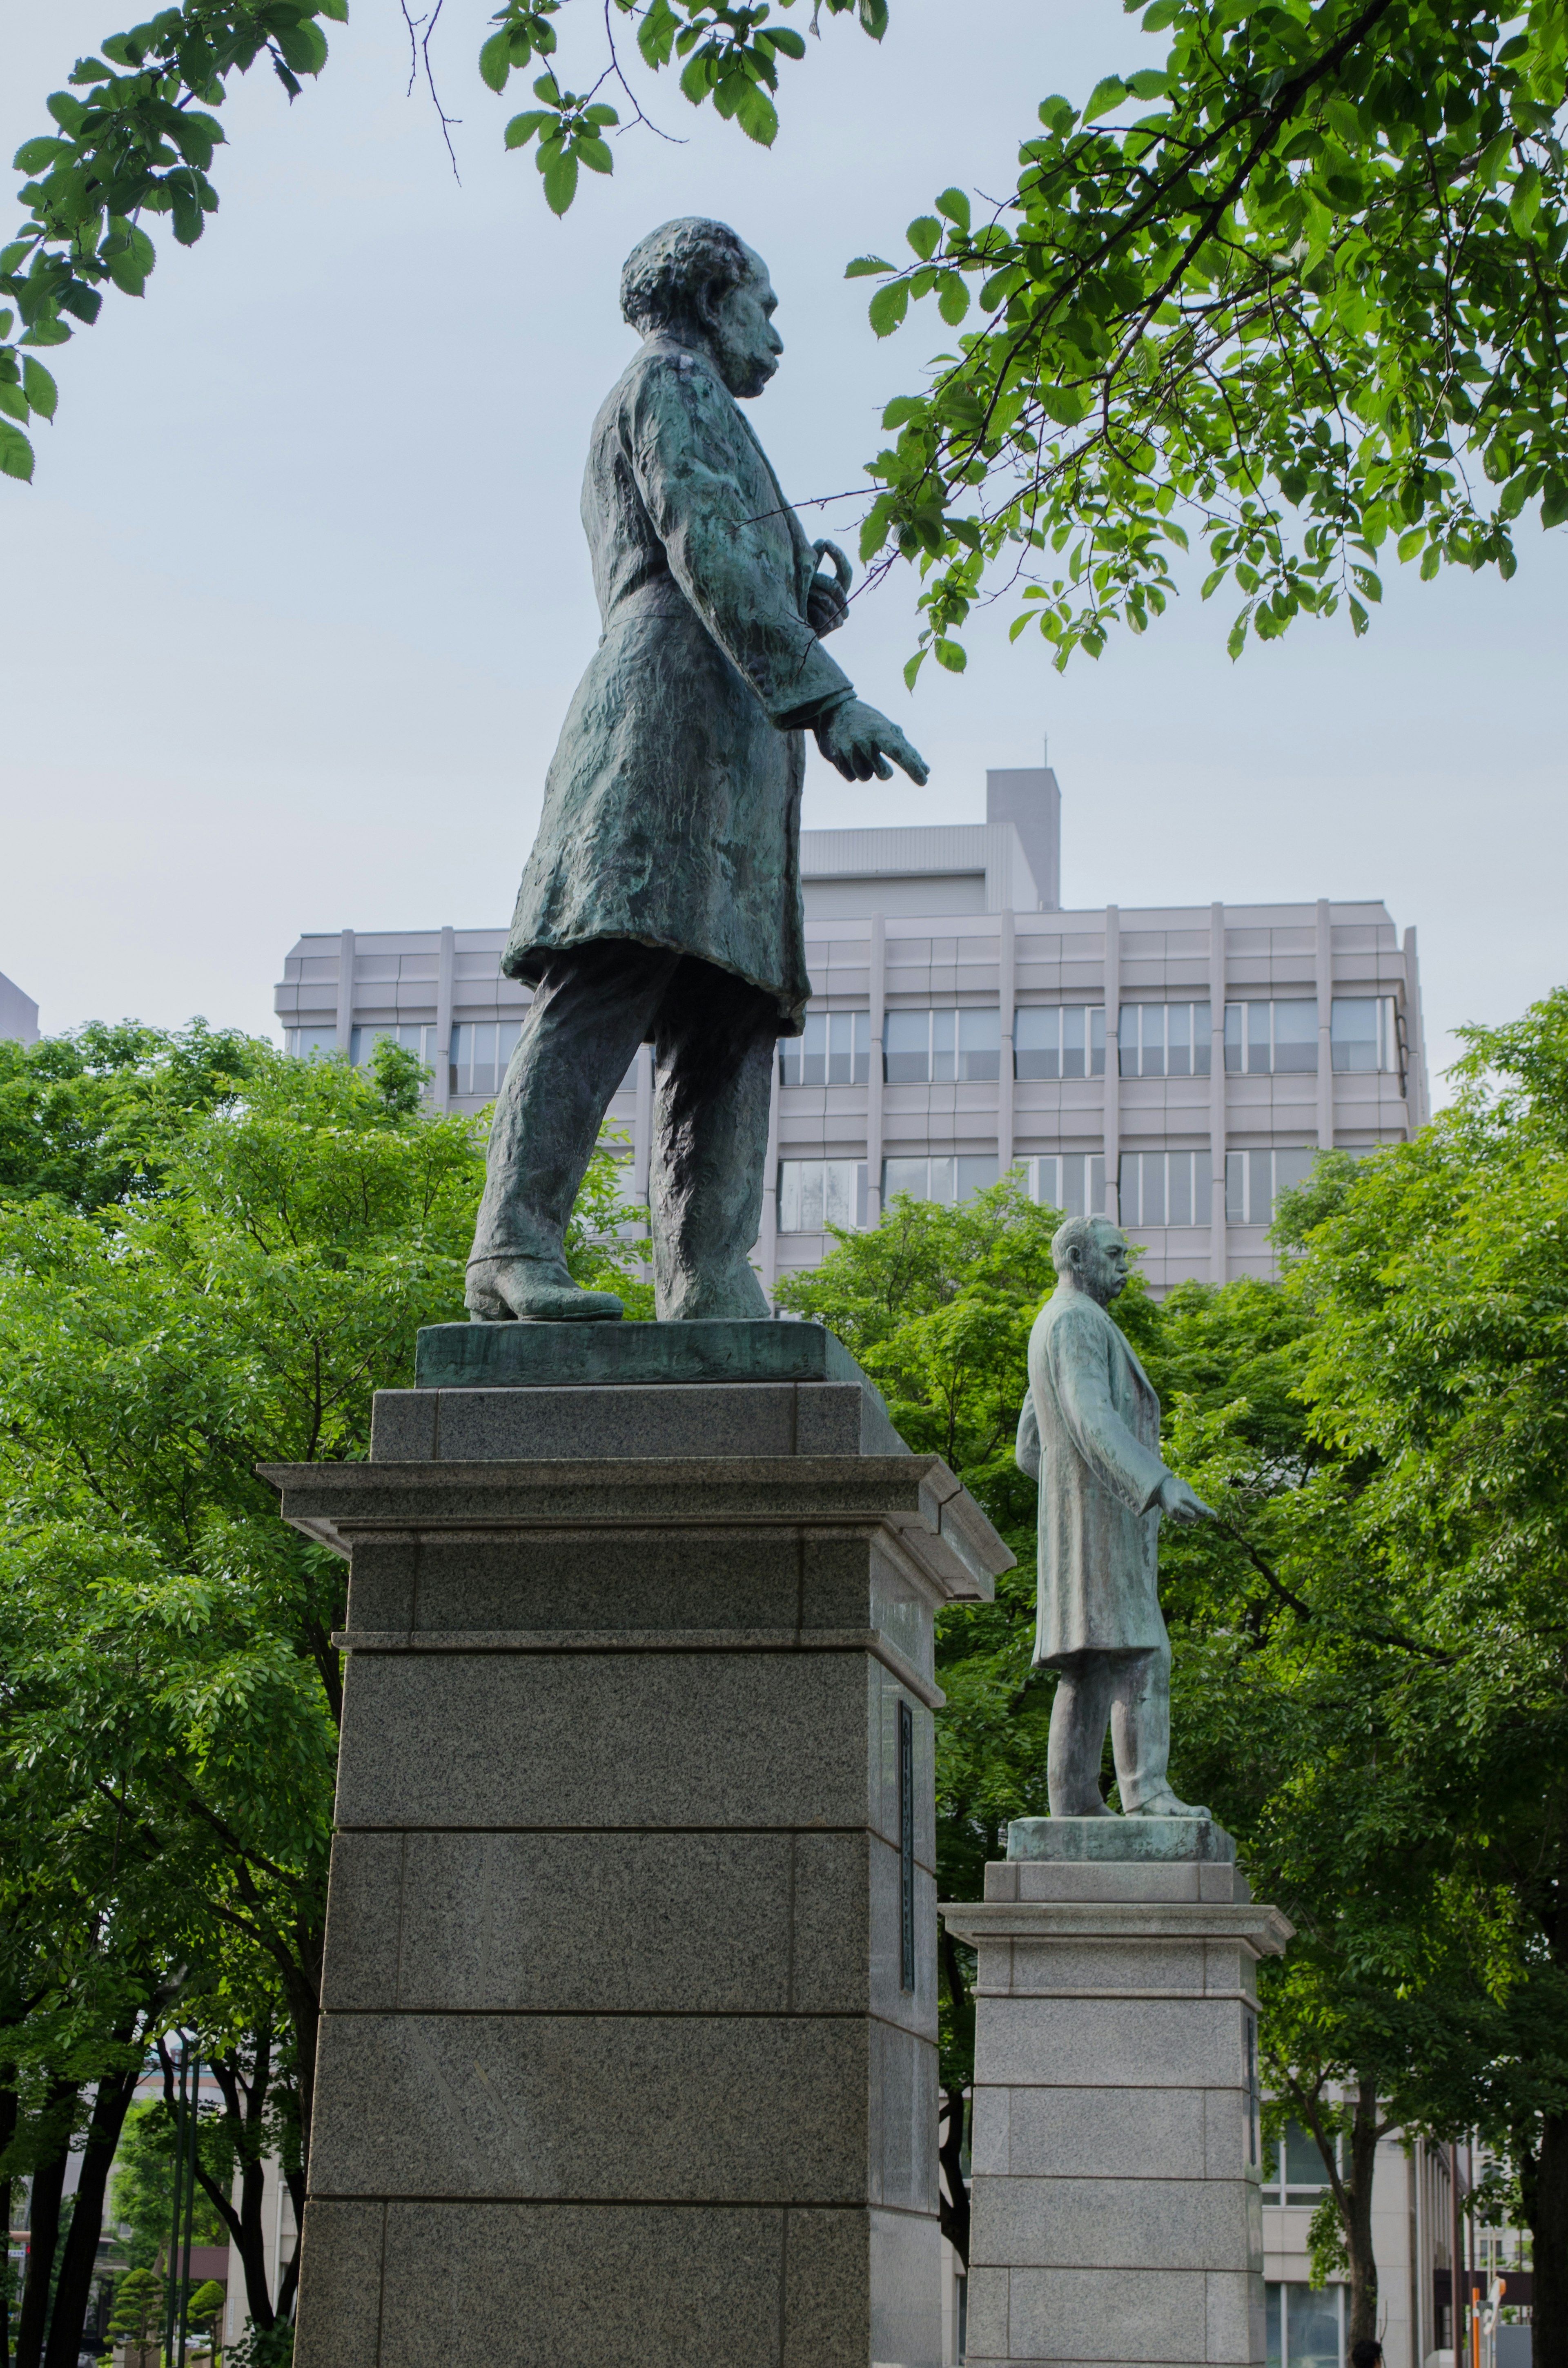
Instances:
[[[765,1317],[775,1042],[810,995],[805,732],[846,779],[926,767],[822,637],[848,561],[812,545],[741,403],[784,350],[760,256],[722,223],[651,232],[621,275],[642,350],[604,403],[583,526],[604,635],[561,729],[502,954],[533,1004],[495,1101],[469,1257],[478,1319],[604,1319],[561,1238],[611,1094],[654,1047],[649,1220],[668,1317]],[[820,573],[831,554],[836,575]]]

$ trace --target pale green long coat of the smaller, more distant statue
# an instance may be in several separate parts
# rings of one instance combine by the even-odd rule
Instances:
[[[1040,1478],[1035,1660],[1165,1643],[1161,1402],[1127,1336],[1059,1283],[1028,1336],[1018,1468]]]

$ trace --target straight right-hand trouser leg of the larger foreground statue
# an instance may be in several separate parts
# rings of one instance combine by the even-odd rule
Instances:
[[[654,1025],[649,1217],[661,1321],[765,1317],[751,1267],[763,1220],[772,995],[687,957]]]

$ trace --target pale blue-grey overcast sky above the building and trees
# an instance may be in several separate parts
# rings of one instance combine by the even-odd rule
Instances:
[[[0,0],[2,154],[123,21]],[[599,12],[559,21],[583,88]],[[500,147],[528,92],[478,83],[483,26],[445,0],[462,185],[405,97],[398,0],[353,0],[294,107],[253,71],[223,109],[201,244],[159,230],[147,298],[109,294],[50,355],[36,485],[0,478],[0,971],[45,1030],[201,1011],[270,1032],[298,931],[502,924],[597,637],[578,483],[630,355],[625,251],[677,213],[763,251],[786,353],[753,424],[793,500],[855,493],[879,407],[943,332],[917,313],[876,343],[843,263],[902,251],[947,182],[1002,192],[1047,90],[1149,62],[1104,0],[893,0],[881,50],[824,24],[770,154],[661,78],[682,144],[628,133],[557,223]],[[808,530],[853,542],[857,504]],[[985,767],[1037,762],[1049,734],[1066,905],[1386,897],[1421,935],[1438,1068],[1454,1025],[1568,973],[1563,535],[1523,526],[1511,585],[1405,571],[1364,642],[1305,620],[1232,665],[1229,613],[1182,599],[1059,677],[1040,639],[1007,644],[1002,606],[964,677],[928,668],[907,696],[898,573],[834,651],[931,784],[848,789],[812,751],[805,822],[978,819]]]

